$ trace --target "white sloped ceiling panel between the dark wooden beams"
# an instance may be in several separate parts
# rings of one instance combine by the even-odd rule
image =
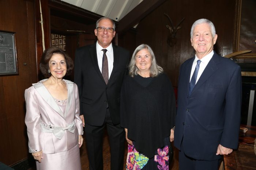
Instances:
[[[120,21],[143,0],[62,0],[77,7]]]

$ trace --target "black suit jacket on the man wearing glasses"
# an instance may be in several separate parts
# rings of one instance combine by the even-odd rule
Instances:
[[[85,123],[93,126],[103,124],[107,104],[113,123],[120,123],[120,90],[129,51],[113,45],[113,53],[113,70],[106,85],[98,66],[96,43],[76,50],[74,82],[79,90],[80,115],[84,115]]]

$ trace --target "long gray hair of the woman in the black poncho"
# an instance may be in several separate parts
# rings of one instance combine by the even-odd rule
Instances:
[[[158,74],[163,72],[163,68],[158,66],[157,61],[155,60],[155,55],[153,50],[148,46],[147,44],[141,44],[139,45],[133,52],[131,62],[129,64],[129,75],[131,77],[134,77],[134,75],[138,75],[139,69],[136,67],[135,60],[136,60],[136,54],[143,49],[147,49],[152,57],[151,59],[151,67],[150,67],[150,77],[156,77]]]

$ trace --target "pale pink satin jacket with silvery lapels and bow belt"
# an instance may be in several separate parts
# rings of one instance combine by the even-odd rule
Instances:
[[[25,123],[30,153],[40,150],[45,154],[67,151],[78,144],[78,135],[83,134],[76,84],[63,80],[68,88],[68,101],[63,113],[42,84],[45,80],[25,90]]]

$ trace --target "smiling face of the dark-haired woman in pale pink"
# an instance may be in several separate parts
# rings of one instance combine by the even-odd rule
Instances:
[[[49,60],[49,70],[54,79],[62,79],[67,72],[67,64],[62,54],[53,54]]]

